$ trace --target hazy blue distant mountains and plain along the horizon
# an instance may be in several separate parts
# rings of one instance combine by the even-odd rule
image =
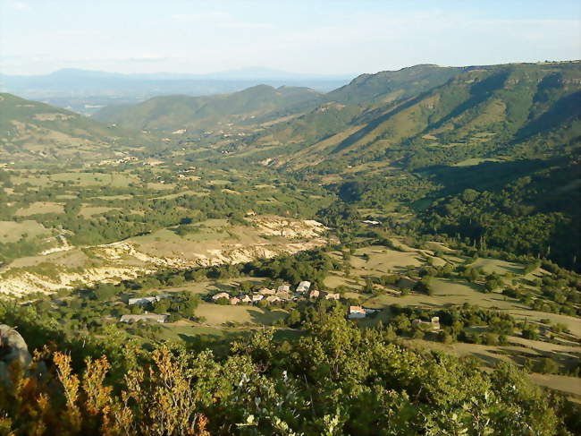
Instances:
[[[259,84],[334,90],[350,77],[242,68],[220,73],[122,74],[67,68],[45,75],[0,74],[0,90],[92,114],[99,107],[129,104],[162,95],[202,96],[244,90]]]

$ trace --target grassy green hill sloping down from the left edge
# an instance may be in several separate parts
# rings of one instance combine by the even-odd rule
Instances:
[[[152,143],[151,138],[60,107],[0,94],[0,160],[83,161]]]

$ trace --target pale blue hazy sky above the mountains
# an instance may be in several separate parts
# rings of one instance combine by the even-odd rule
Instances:
[[[0,73],[375,73],[581,58],[581,2],[0,0]]]

